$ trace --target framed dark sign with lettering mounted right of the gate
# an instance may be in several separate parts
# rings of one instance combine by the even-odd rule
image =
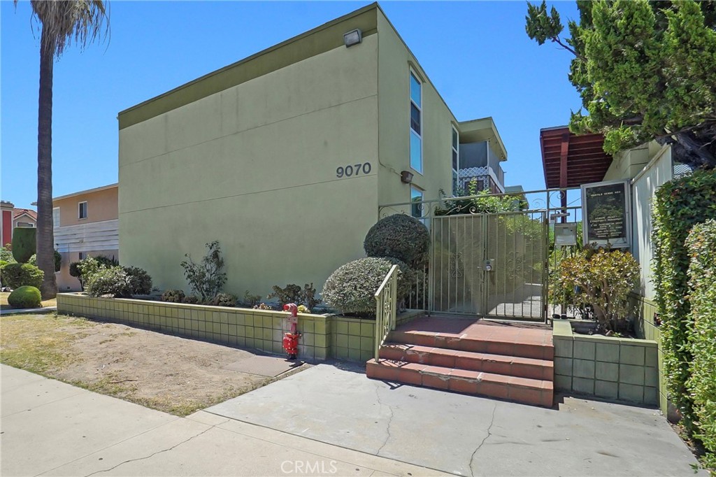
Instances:
[[[584,245],[610,244],[624,249],[632,243],[631,201],[628,180],[610,180],[581,186]]]

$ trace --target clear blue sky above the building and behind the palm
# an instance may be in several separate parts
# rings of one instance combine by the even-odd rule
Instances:
[[[117,112],[368,4],[110,1],[111,38],[54,66],[53,196],[117,181]],[[569,53],[524,29],[524,1],[384,1],[381,6],[458,120],[492,116],[507,185],[544,187],[539,130],[579,96]],[[574,2],[558,2],[563,21]],[[0,1],[1,198],[37,200],[39,37],[28,1]]]

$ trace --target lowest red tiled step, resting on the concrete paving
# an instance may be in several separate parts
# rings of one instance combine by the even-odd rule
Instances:
[[[391,360],[369,360],[366,363],[366,374],[378,380],[498,397],[523,404],[547,407],[552,405],[551,380]]]

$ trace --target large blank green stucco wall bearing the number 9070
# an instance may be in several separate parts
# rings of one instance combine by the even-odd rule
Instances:
[[[120,130],[122,264],[188,291],[218,240],[226,291],[268,294],[362,256],[377,219],[377,35]],[[370,163],[369,175],[336,169]]]

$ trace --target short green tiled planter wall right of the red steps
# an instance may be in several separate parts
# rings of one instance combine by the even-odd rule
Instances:
[[[560,392],[629,403],[659,403],[657,342],[573,334],[554,322],[554,385]]]

